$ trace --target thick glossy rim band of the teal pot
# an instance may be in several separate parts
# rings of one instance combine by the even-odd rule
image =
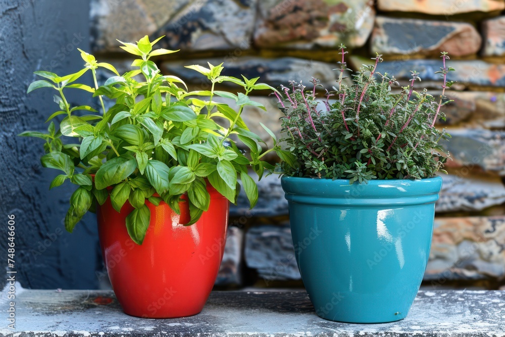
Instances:
[[[349,184],[348,179],[282,176],[287,201],[308,205],[420,205],[438,200],[442,178],[370,180]]]

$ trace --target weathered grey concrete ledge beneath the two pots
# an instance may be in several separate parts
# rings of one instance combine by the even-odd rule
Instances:
[[[305,292],[213,292],[204,311],[177,319],[125,315],[105,291],[26,290],[16,329],[0,304],[0,336],[505,336],[505,291],[420,291],[409,316],[345,324],[316,316]]]

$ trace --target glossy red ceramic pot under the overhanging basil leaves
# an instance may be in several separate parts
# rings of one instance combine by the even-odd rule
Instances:
[[[110,199],[97,207],[98,234],[109,278],[125,313],[144,318],[176,318],[199,313],[207,301],[223,258],[228,200],[212,186],[209,210],[191,226],[187,203],[181,215],[161,202],[151,211],[141,246],[126,230],[133,207],[118,213]]]

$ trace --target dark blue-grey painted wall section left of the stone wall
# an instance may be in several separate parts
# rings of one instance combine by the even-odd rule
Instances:
[[[16,136],[46,129],[45,119],[59,110],[51,89],[27,97],[32,72],[81,69],[76,47],[89,51],[89,0],[0,0],[0,260],[6,268],[7,215],[14,214],[17,280],[23,287],[95,288],[95,270],[102,268],[94,215],[73,234],[64,230],[74,186],[49,191],[58,173],[40,167],[43,141]],[[77,91],[67,99],[92,104]],[[2,285],[5,277],[0,279]]]

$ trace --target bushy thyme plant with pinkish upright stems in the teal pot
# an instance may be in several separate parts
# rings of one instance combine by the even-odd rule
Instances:
[[[285,115],[282,140],[294,158],[282,161],[280,171],[349,183],[433,177],[448,158],[438,141],[450,135],[434,127],[438,118],[445,118],[440,108],[451,102],[444,96],[452,84],[447,73],[454,70],[445,64],[447,53],[442,53],[438,71],[443,77],[438,101],[426,89],[414,90],[415,82],[421,81],[416,71],[408,86],[391,93],[391,86],[399,84],[394,76],[377,72],[381,55],[372,59],[375,64],[363,65],[352,75],[352,85],[345,85],[345,54],[340,45],[338,85],[326,90],[323,103],[317,97],[316,89],[322,86],[317,79],[310,89],[291,81],[281,87],[282,97],[276,93]]]

